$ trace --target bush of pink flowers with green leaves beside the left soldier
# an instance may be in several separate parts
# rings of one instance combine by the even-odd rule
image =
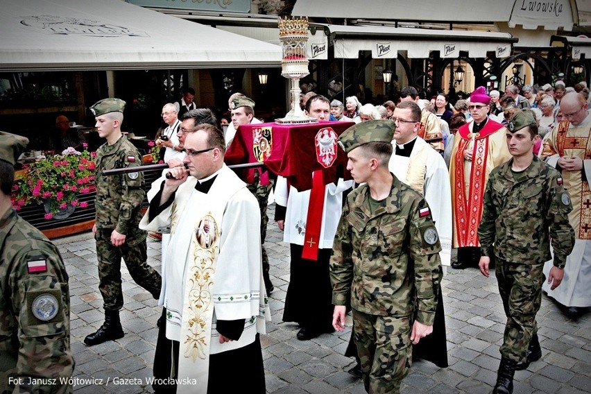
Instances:
[[[45,219],[53,219],[60,210],[72,207],[86,208],[78,203],[76,194],[89,193],[94,186],[94,152],[78,152],[67,148],[60,155],[41,156],[28,165],[26,175],[17,176],[12,189],[12,206],[18,211],[25,205],[50,201]]]

